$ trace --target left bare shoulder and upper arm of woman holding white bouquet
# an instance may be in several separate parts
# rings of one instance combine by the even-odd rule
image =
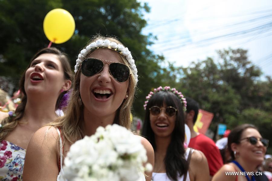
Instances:
[[[56,180],[59,173],[58,137],[56,128],[51,126],[44,126],[33,134],[25,156],[24,180]]]

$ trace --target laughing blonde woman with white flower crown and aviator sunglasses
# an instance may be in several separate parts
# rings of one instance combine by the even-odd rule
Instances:
[[[131,126],[131,105],[138,82],[131,53],[114,38],[96,36],[91,42],[76,60],[66,115],[39,129],[30,141],[24,181],[65,180],[62,163],[71,144],[93,135],[99,126]],[[147,162],[154,163],[151,144],[145,138],[141,141],[147,150]],[[151,173],[146,173],[146,180],[151,180]]]

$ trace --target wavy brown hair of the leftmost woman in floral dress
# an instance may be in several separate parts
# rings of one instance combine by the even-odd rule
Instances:
[[[7,117],[5,119],[3,119],[1,121],[2,124],[2,128],[0,130],[0,141],[5,139],[5,137],[8,135],[9,132],[13,131],[16,126],[18,125],[18,123],[21,123],[21,118],[24,116],[24,108],[26,106],[27,103],[27,95],[25,93],[24,90],[24,80],[25,80],[25,72],[27,71],[27,69],[30,67],[31,62],[36,59],[38,56],[40,56],[41,54],[44,53],[52,53],[57,55],[58,59],[61,62],[62,68],[63,68],[63,73],[64,73],[64,78],[67,80],[71,80],[73,81],[73,72],[71,70],[71,66],[70,66],[70,61],[69,58],[67,57],[67,55],[63,52],[61,52],[59,49],[51,47],[51,48],[44,48],[39,50],[31,59],[28,67],[26,68],[26,70],[24,71],[21,79],[20,79],[20,83],[19,83],[19,90],[21,90],[23,97],[21,100],[21,103],[17,106],[16,110],[15,110],[15,117]],[[67,91],[63,91],[56,102],[55,105],[55,110],[57,110],[61,98],[63,97],[63,95],[66,93]]]

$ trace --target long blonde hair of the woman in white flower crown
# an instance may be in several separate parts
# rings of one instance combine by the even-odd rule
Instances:
[[[110,40],[111,42],[122,44],[120,41],[113,37],[103,37],[101,35],[94,36],[87,45],[96,40]],[[86,46],[87,46],[86,45]],[[85,46],[85,47],[86,47]],[[86,57],[88,57],[92,52],[91,51]],[[127,65],[131,72],[131,67],[128,64],[128,61],[119,54],[122,63]],[[70,94],[70,101],[67,106],[66,114],[62,117],[59,117],[55,122],[50,122],[47,125],[58,127],[62,129],[63,136],[70,142],[73,143],[76,140],[83,138],[83,104],[81,102],[80,93],[79,93],[79,85],[80,85],[80,74],[81,74],[81,66],[79,67],[77,73],[75,74],[74,83],[71,86],[71,94]],[[135,94],[135,87],[136,87],[136,79],[133,74],[129,77],[129,84],[128,84],[128,98],[124,99],[121,106],[117,109],[117,113],[115,115],[115,119],[113,123],[124,126],[127,129],[131,127],[131,106],[134,100]]]

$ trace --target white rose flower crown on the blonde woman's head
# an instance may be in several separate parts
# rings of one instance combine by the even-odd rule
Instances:
[[[85,56],[88,55],[89,52],[91,52],[94,49],[98,48],[108,48],[115,50],[116,52],[119,52],[122,56],[125,57],[125,59],[128,61],[131,71],[136,79],[136,83],[138,82],[138,70],[136,68],[134,59],[131,56],[130,51],[128,50],[127,47],[124,47],[121,44],[117,44],[115,42],[111,42],[110,40],[96,40],[95,42],[90,43],[88,46],[86,46],[86,49],[83,49],[80,51],[78,54],[78,59],[76,60],[76,65],[75,65],[75,73],[79,69],[79,66],[82,64],[83,59]]]

